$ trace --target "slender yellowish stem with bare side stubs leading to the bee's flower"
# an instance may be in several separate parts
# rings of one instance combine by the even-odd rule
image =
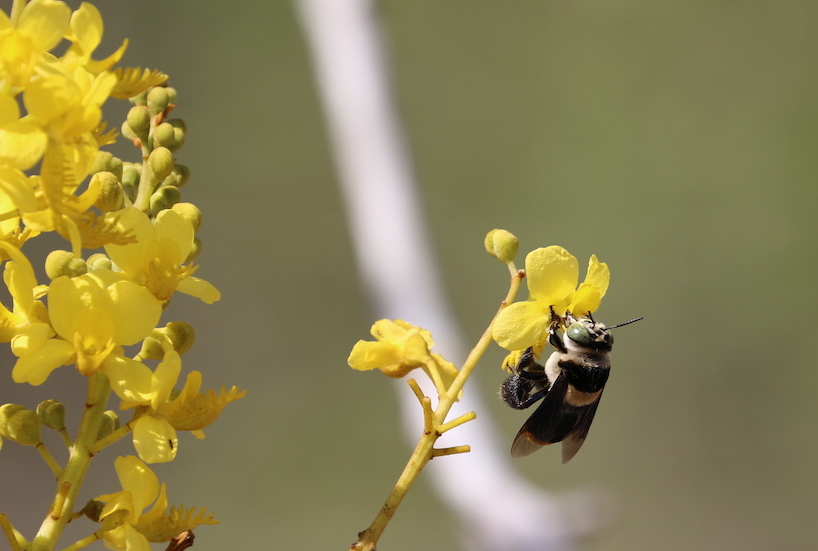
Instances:
[[[466,384],[466,381],[468,380],[472,371],[474,371],[474,368],[477,366],[477,362],[491,344],[491,330],[494,326],[494,320],[497,319],[497,316],[506,308],[506,306],[514,302],[514,298],[517,296],[517,291],[520,288],[520,283],[522,282],[523,277],[525,277],[525,272],[523,270],[514,269],[513,264],[509,265],[509,270],[512,277],[506,298],[503,300],[502,304],[500,305],[500,309],[497,311],[497,314],[494,315],[494,318],[491,320],[489,326],[483,332],[480,340],[469,353],[463,367],[458,372],[457,377],[455,377],[451,386],[442,396],[440,396],[437,408],[434,411],[431,409],[431,399],[428,396],[423,395],[414,380],[409,381],[409,386],[412,387],[412,390],[418,397],[418,400],[423,407],[423,416],[425,420],[423,434],[415,447],[415,451],[409,458],[406,467],[403,469],[403,473],[401,473],[397,484],[395,484],[395,487],[392,489],[392,493],[389,494],[389,497],[386,499],[386,502],[383,504],[383,507],[381,507],[381,510],[378,512],[378,515],[375,517],[375,520],[372,521],[369,528],[358,534],[358,541],[350,546],[350,550],[375,550],[375,546],[378,543],[381,534],[383,534],[383,531],[386,529],[386,525],[389,524],[389,521],[392,520],[392,517],[395,515],[395,511],[403,498],[406,496],[409,488],[412,486],[415,479],[417,479],[420,471],[423,469],[426,463],[428,463],[433,457],[468,451],[468,446],[456,446],[453,448],[437,450],[435,449],[434,445],[440,435],[445,431],[461,425],[466,421],[470,421],[475,417],[474,413],[472,412],[458,417],[457,419],[448,423],[445,422],[446,416],[449,414],[449,410],[451,410],[452,405],[454,405],[454,402],[460,395],[460,391],[463,389],[463,386]]]

